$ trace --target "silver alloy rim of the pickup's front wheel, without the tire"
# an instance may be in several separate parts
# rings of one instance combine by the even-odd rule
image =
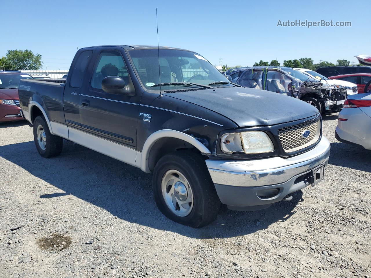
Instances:
[[[167,207],[177,216],[187,216],[193,208],[193,193],[184,175],[177,170],[169,170],[162,177],[162,196]]]

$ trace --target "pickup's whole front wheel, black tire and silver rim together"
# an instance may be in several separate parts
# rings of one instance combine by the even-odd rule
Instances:
[[[213,222],[220,208],[205,161],[192,152],[177,151],[157,162],[153,194],[166,217],[194,228]]]

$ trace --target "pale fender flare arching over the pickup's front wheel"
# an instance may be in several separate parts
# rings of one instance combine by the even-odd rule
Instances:
[[[185,134],[183,132],[173,130],[173,129],[161,129],[154,133],[152,133],[143,145],[142,154],[141,154],[141,169],[143,172],[151,173],[150,168],[148,167],[148,156],[151,152],[152,146],[161,138],[171,137],[181,139],[187,143],[193,145],[196,149],[198,149],[203,154],[211,154],[210,150],[206,148],[200,141],[195,139],[194,137]]]

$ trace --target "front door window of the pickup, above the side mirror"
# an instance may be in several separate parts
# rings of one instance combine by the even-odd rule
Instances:
[[[119,52],[104,51],[98,57],[98,63],[93,70],[91,86],[102,89],[102,80],[107,76],[120,76],[128,84],[128,70]]]

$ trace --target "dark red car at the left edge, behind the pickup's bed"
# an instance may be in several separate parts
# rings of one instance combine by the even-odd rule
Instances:
[[[18,99],[21,79],[32,79],[32,76],[18,70],[0,70],[0,122],[23,119]]]

